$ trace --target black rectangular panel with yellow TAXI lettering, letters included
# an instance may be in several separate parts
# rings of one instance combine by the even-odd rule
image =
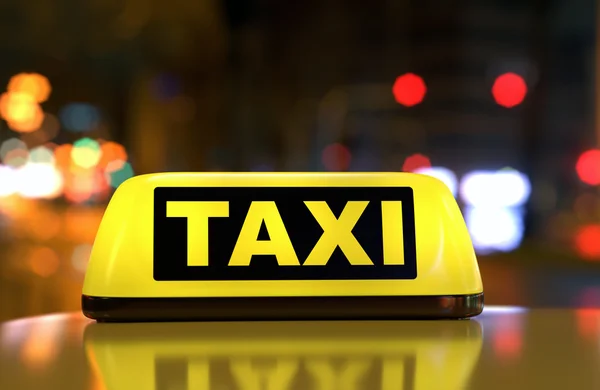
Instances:
[[[159,187],[154,279],[417,277],[409,187]]]

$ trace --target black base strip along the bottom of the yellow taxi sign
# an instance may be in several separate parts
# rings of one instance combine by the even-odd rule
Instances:
[[[449,296],[102,298],[83,295],[98,322],[463,319],[483,311],[483,293]]]

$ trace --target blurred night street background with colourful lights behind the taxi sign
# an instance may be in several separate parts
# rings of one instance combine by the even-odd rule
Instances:
[[[165,171],[442,179],[486,303],[600,306],[592,0],[0,2],[0,321],[79,310],[114,189]]]

